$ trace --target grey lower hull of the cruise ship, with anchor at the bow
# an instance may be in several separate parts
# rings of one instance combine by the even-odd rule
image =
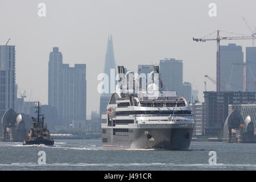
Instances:
[[[102,146],[123,149],[187,150],[192,134],[193,128],[129,129],[127,133],[118,134],[113,133],[113,129],[106,129],[106,134],[102,134]]]

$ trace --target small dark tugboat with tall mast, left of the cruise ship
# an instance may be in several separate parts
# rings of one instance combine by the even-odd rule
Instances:
[[[40,114],[40,106],[39,102],[37,102],[36,113],[38,114],[38,118],[32,118],[32,129],[27,134],[27,137],[23,141],[23,145],[30,144],[45,144],[48,146],[52,146],[54,144],[54,140],[47,130],[47,127],[44,126],[44,116]]]

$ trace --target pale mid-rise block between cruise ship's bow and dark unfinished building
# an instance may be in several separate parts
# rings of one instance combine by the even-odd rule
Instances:
[[[195,127],[193,135],[205,134],[205,104],[204,102],[196,102],[192,104],[192,114],[195,119]]]

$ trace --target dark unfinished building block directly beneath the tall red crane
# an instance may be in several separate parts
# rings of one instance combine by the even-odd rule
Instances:
[[[251,104],[255,100],[256,92],[204,92],[205,135],[218,137],[223,134],[230,104]]]

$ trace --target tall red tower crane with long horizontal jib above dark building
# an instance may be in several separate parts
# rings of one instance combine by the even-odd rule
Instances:
[[[247,40],[247,39],[256,39],[256,36],[230,36],[230,37],[220,37],[220,32],[224,32],[224,31],[220,31],[220,30],[217,30],[215,31],[217,32],[217,38],[205,38],[206,36],[204,36],[203,38],[193,38],[193,41],[196,41],[196,42],[207,42],[209,40],[214,40],[217,42],[217,84],[216,84],[216,90],[217,92],[220,92],[220,88],[221,88],[221,82],[220,82],[220,41],[221,40]],[[211,34],[209,35],[212,35],[214,34],[215,32],[212,32]],[[232,32],[228,32],[228,33],[231,33],[231,34],[234,34]],[[207,36],[209,36],[207,35]]]

